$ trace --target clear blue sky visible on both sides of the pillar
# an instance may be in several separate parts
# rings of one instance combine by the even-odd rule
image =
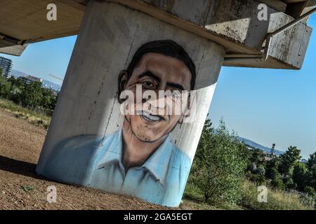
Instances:
[[[225,120],[230,130],[263,146],[301,148],[304,158],[316,151],[316,15],[303,69],[274,70],[223,67],[209,118]],[[13,69],[61,83],[77,36],[34,43],[13,59]]]

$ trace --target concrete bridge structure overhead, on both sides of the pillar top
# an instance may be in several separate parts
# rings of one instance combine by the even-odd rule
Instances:
[[[294,18],[314,8],[316,0],[198,0],[187,7],[185,15],[177,12],[183,1],[175,0],[162,6],[157,0],[114,0],[114,3],[135,8],[159,20],[208,38],[223,45],[227,57],[262,55],[268,32],[282,27]],[[46,20],[48,3],[57,6],[57,21]],[[0,52],[21,55],[29,43],[78,34],[84,17],[85,0],[1,0]],[[269,20],[258,21],[258,3],[268,5]],[[190,3],[189,3],[190,5]],[[216,10],[214,10],[214,7]],[[227,8],[230,10],[227,10]],[[212,12],[209,10],[212,8]],[[214,13],[217,12],[217,13]],[[266,62],[244,60],[224,62],[225,66],[249,66],[276,69],[300,69],[312,29],[305,21],[277,40]],[[291,34],[291,35],[289,35]],[[299,49],[295,52],[291,49]],[[299,57],[298,57],[299,55]]]

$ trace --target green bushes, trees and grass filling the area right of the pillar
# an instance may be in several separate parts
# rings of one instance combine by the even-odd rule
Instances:
[[[265,153],[249,150],[230,134],[223,120],[216,129],[206,120],[185,198],[230,209],[313,209],[315,157],[310,156],[309,170],[298,162],[300,153],[298,148],[290,146],[283,155],[265,160]],[[245,179],[251,182],[245,183]],[[270,188],[268,203],[258,202],[257,186]]]

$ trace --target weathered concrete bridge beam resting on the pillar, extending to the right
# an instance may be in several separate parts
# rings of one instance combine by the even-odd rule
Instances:
[[[227,49],[229,55],[261,54],[267,34],[293,20],[289,15],[268,8],[269,20],[259,21],[258,4],[261,1],[255,0],[116,0],[114,2],[143,11],[159,20],[216,41]],[[258,66],[272,69],[300,69],[311,32],[312,29],[303,22],[289,29],[286,33],[291,35],[282,36],[285,40],[276,38],[272,43],[274,46],[270,55],[272,59]],[[297,54],[291,50],[292,48],[300,49],[301,53]],[[231,63],[224,65],[234,66]],[[245,61],[240,65],[254,64]]]

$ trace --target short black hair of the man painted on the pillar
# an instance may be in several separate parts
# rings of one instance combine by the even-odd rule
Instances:
[[[197,77],[197,73],[195,72],[195,63],[192,61],[191,57],[187,55],[187,52],[183,49],[183,47],[178,45],[178,43],[176,43],[175,41],[171,40],[150,41],[141,45],[140,48],[138,48],[138,50],[135,52],[135,55],[133,56],[129,67],[127,68],[128,78],[131,77],[135,67],[137,66],[143,55],[150,52],[174,57],[183,61],[185,63],[185,66],[187,66],[187,69],[190,70],[192,76],[190,83],[191,90],[194,89],[195,78]]]

